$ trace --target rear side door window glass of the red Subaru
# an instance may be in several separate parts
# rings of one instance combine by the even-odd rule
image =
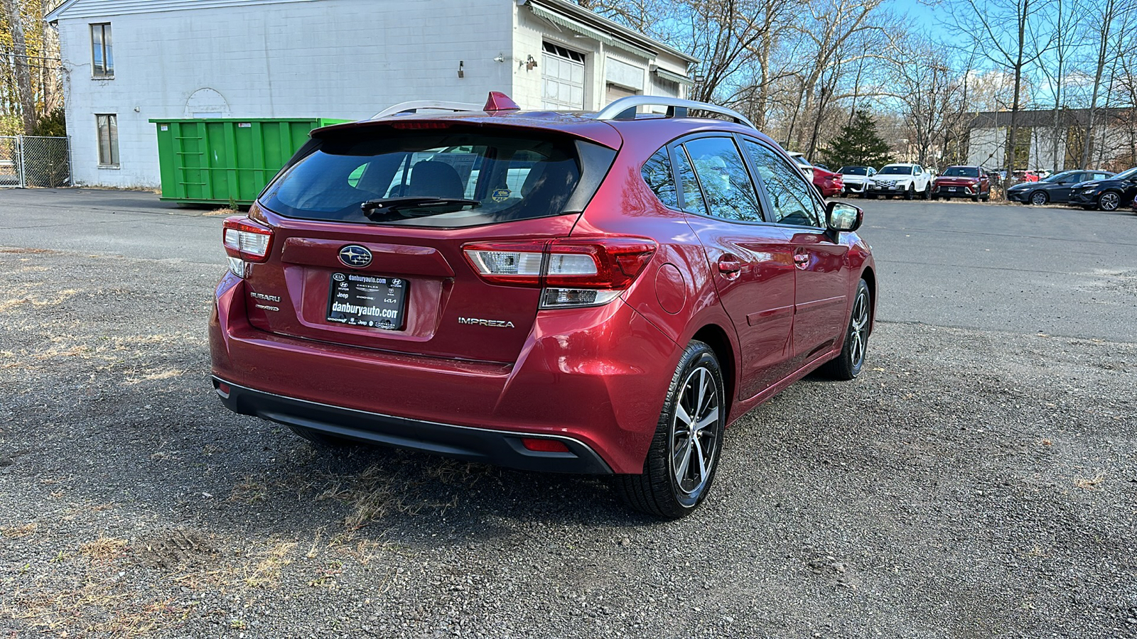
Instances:
[[[683,143],[695,163],[703,196],[713,217],[762,222],[758,193],[746,172],[738,147],[730,138],[699,138]]]

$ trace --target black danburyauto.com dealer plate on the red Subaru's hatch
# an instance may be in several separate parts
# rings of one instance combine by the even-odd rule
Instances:
[[[407,288],[401,277],[332,273],[327,321],[398,331],[406,324]]]

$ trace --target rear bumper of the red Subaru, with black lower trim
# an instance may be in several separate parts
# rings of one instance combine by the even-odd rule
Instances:
[[[217,287],[209,324],[213,376],[244,389],[238,395],[249,403],[233,399],[225,403],[230,408],[363,441],[515,467],[531,467],[531,457],[517,457],[511,442],[532,435],[580,445],[570,446],[578,462],[565,458],[556,465],[582,470],[565,472],[641,473],[681,354],[619,299],[538,313],[513,363],[269,333],[249,324],[247,299],[244,282],[227,274]],[[314,413],[313,405],[325,408]],[[446,428],[462,434],[439,434]],[[476,430],[484,434],[470,432]]]

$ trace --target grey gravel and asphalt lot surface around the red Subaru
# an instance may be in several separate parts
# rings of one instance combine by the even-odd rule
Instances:
[[[920,315],[936,302],[911,256],[951,256],[911,229],[1027,214],[870,202],[895,292],[869,370],[749,413],[708,503],[661,524],[601,480],[316,450],[233,415],[207,379],[219,247],[32,235],[17,211],[47,209],[14,201],[30,200],[0,193],[0,637],[1137,634],[1137,224],[1121,217],[1079,218],[1130,242],[1098,242],[1120,256],[1098,283],[1067,274],[1101,304],[1059,294],[1055,313],[1084,322],[993,330]],[[179,226],[185,255],[219,235],[198,211],[124,214]],[[1006,252],[985,236],[960,243]]]

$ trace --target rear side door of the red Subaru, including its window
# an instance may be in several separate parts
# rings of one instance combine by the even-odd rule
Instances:
[[[706,251],[711,277],[740,347],[738,397],[785,376],[792,356],[794,263],[787,235],[763,216],[735,139],[697,136],[671,146],[680,206]]]

